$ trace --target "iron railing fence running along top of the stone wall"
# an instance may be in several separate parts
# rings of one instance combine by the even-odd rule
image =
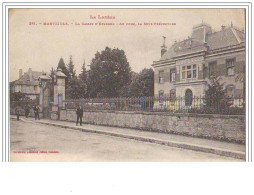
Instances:
[[[122,111],[163,111],[190,113],[244,114],[243,97],[225,99],[228,106],[222,104],[208,106],[205,97],[131,97],[131,98],[93,98],[65,100],[66,109],[76,109],[79,105],[84,110],[122,110]]]

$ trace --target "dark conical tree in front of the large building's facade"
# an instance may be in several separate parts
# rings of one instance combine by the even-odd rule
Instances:
[[[227,97],[226,91],[223,88],[219,77],[213,76],[210,78],[210,83],[205,93],[205,105],[207,109],[212,109],[216,112],[225,111],[232,105],[230,98]]]

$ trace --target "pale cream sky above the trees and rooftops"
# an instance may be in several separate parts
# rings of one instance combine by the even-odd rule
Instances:
[[[67,64],[71,55],[76,72],[80,73],[84,60],[89,65],[95,53],[106,46],[123,49],[131,69],[139,72],[160,59],[162,36],[170,47],[191,36],[193,26],[202,21],[211,25],[213,31],[219,31],[222,25],[230,26],[231,22],[243,29],[245,13],[243,9],[11,9],[10,81],[18,79],[19,69],[49,72],[57,67],[61,57]],[[69,25],[50,26],[43,25],[44,22]],[[95,25],[98,22],[115,25]],[[76,25],[82,23],[94,25]]]

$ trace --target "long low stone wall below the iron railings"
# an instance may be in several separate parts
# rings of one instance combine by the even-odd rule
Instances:
[[[76,111],[61,110],[60,120],[76,121]],[[83,122],[245,143],[245,116],[85,111]]]

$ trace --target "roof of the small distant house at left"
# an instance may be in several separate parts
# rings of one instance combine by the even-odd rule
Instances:
[[[30,75],[29,75],[30,74]],[[14,81],[14,84],[17,85],[39,85],[39,77],[42,75],[42,72],[37,71],[28,71],[24,73],[18,80]]]

